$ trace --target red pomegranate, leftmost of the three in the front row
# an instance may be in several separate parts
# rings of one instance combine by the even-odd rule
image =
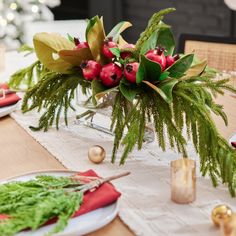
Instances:
[[[93,60],[82,62],[80,67],[82,69],[83,76],[86,80],[97,79],[102,68],[99,63]]]

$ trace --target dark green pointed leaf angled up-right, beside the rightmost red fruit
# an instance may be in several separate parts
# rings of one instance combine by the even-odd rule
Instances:
[[[172,66],[170,66],[167,71],[170,72],[170,77],[180,78],[184,73],[191,67],[194,54],[187,54],[177,60]]]

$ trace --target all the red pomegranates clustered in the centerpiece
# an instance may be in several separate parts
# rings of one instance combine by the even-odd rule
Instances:
[[[78,39],[75,39],[75,45],[76,50],[89,47],[87,42],[79,42]],[[118,48],[118,45],[112,40],[112,38],[108,38],[104,41],[102,47],[103,55],[106,58],[111,59],[111,62],[106,65],[102,66],[94,60],[82,62],[80,67],[82,69],[84,78],[90,81],[99,79],[104,86],[109,88],[117,86],[123,77],[125,77],[131,83],[136,83],[136,74],[138,72],[139,62],[129,62],[129,60],[125,60],[132,57],[132,53],[128,50],[134,49],[135,45],[126,44],[122,47],[122,49],[125,50],[120,53],[120,58],[124,61],[124,65],[116,61],[116,56],[111,52],[111,48]],[[145,56],[149,60],[158,63],[161,66],[162,71],[164,71],[179,59],[178,55],[165,56],[164,52],[165,49],[163,47],[157,47],[155,49],[149,50]]]

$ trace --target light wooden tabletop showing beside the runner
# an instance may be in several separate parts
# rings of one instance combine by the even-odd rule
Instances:
[[[229,126],[226,127],[219,118],[215,118],[216,125],[228,139],[236,132],[236,98],[225,94],[217,102],[224,105]],[[0,118],[0,166],[1,180],[26,172],[66,169],[10,116]],[[111,223],[89,235],[130,236],[134,233],[117,216]]]

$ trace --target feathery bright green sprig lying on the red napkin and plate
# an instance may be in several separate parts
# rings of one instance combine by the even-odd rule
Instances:
[[[9,217],[1,220],[1,235],[36,230],[55,217],[57,223],[47,235],[62,231],[83,200],[81,192],[64,189],[73,184],[75,181],[67,177],[37,176],[35,180],[1,185],[0,212]]]

